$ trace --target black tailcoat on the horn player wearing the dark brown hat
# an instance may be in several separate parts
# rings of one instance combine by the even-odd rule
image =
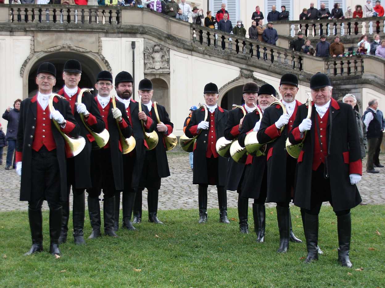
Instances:
[[[224,137],[227,140],[234,140],[239,135],[239,121],[243,118],[243,112],[241,109],[236,108],[230,110],[227,113],[227,122],[224,129]],[[231,129],[237,126],[236,131],[238,135],[234,136],[234,133],[231,134]],[[243,163],[237,163],[233,158],[229,157],[228,167],[227,167],[227,177],[226,177],[226,189],[235,191],[238,189],[239,181],[241,181],[245,165]]]

